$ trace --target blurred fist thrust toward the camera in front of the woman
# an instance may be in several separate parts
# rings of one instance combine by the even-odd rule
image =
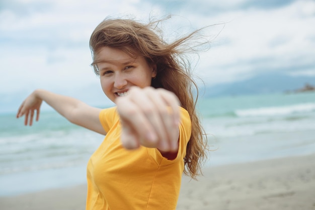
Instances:
[[[162,152],[178,150],[180,102],[164,89],[132,87],[115,101],[122,125],[121,142],[127,149],[140,145]]]

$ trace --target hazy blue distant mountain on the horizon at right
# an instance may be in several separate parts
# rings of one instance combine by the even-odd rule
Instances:
[[[315,85],[315,77],[265,74],[253,78],[206,87],[204,97],[267,94],[294,91],[305,84]]]

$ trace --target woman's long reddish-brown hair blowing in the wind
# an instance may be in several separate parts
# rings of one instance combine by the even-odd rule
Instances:
[[[91,35],[90,48],[94,60],[92,65],[99,75],[96,57],[104,46],[120,49],[131,57],[143,56],[149,64],[156,65],[157,74],[152,79],[151,86],[175,93],[181,106],[190,115],[192,132],[184,158],[184,173],[196,179],[207,158],[207,138],[196,113],[198,87],[192,79],[191,65],[184,54],[193,49],[187,43],[198,30],[167,43],[162,36],[157,35],[160,31],[156,25],[160,22],[161,20],[141,24],[128,19],[105,19]]]

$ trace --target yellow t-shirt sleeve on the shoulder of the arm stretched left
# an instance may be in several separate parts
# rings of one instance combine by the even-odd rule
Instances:
[[[106,132],[110,130],[110,128],[114,125],[116,120],[119,120],[119,116],[117,114],[117,108],[111,107],[107,109],[103,109],[99,115],[100,122]]]

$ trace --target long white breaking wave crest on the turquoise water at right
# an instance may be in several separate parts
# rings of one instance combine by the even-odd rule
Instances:
[[[238,117],[279,116],[315,111],[315,103],[296,104],[279,107],[261,107],[254,109],[235,110]]]

